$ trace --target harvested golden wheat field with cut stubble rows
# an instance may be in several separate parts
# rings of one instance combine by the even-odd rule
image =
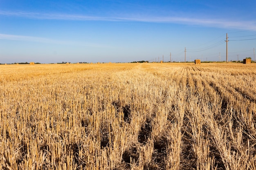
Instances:
[[[256,64],[19,64],[0,73],[0,169],[256,169]]]

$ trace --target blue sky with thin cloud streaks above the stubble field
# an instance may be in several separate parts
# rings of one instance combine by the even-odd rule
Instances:
[[[254,59],[255,0],[0,0],[0,63],[223,61],[226,33]]]

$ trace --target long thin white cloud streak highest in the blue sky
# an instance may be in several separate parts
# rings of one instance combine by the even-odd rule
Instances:
[[[186,17],[101,17],[87,15],[70,15],[70,14],[54,14],[54,13],[33,13],[33,12],[9,12],[0,11],[0,15],[15,16],[31,19],[42,20],[80,20],[80,21],[113,21],[113,22],[154,22],[154,23],[176,23],[186,25],[208,26],[226,29],[256,29],[255,21],[230,21],[230,20],[215,20],[215,19],[200,19]]]

